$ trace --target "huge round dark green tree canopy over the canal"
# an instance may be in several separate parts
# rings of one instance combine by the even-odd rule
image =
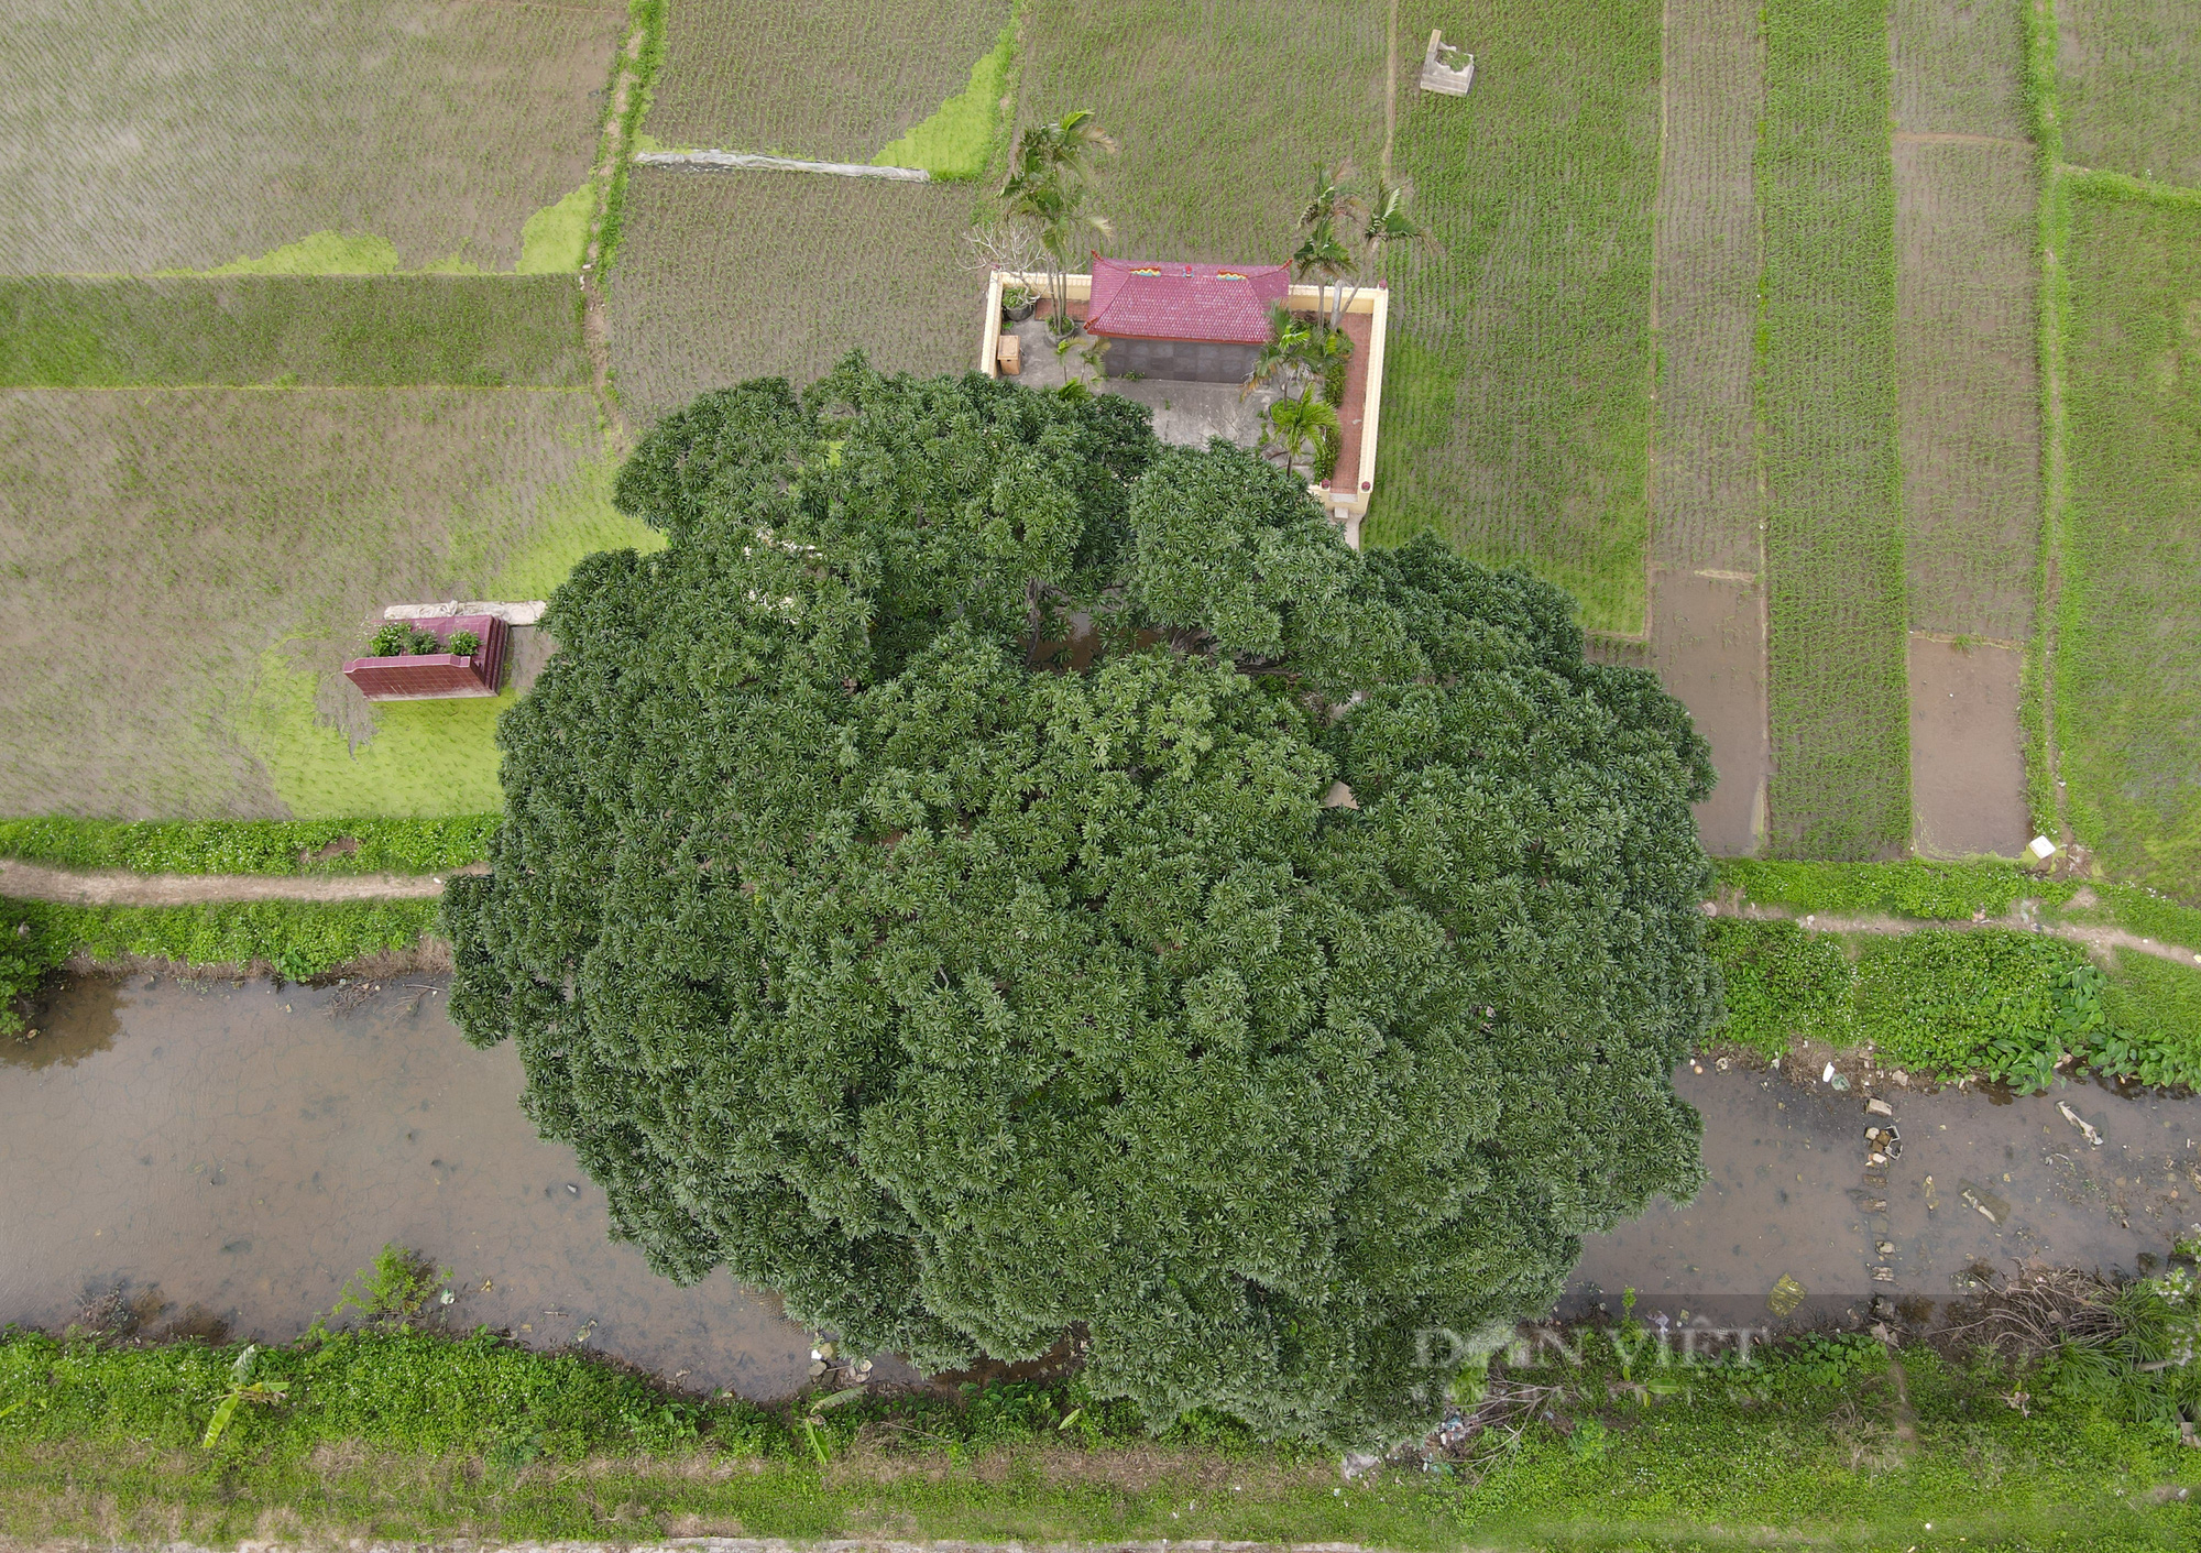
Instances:
[[[696,400],[618,502],[669,546],[550,605],[453,1012],[658,1271],[1365,1441],[1417,1329],[1697,1188],[1706,746],[1556,590],[861,356]]]

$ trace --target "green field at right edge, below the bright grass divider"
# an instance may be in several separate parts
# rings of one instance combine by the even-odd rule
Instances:
[[[2056,739],[2102,864],[2201,900],[2201,194],[2065,178]]]

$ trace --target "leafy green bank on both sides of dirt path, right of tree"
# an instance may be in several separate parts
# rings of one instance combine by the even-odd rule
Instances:
[[[2131,884],[2043,880],[2003,862],[1743,860],[1723,862],[1719,878],[1745,902],[1798,917],[1954,924],[2001,919],[2032,900],[2047,924],[2117,928],[2201,950],[2201,911],[2192,906]],[[2078,1067],[2148,1084],[2201,1082],[2201,966],[2122,948],[2104,970],[2082,944],[2001,926],[1886,935],[1721,917],[1710,924],[1710,944],[1728,985],[1719,1038],[1765,1056],[1805,1040],[1871,1045],[1888,1067],[2038,1087],[2069,1051]]]

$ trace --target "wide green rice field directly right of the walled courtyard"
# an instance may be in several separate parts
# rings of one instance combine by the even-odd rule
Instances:
[[[1431,24],[1404,18],[1402,51]],[[1439,246],[1391,264],[1367,539],[1431,528],[1640,631],[1660,7],[1505,0],[1472,42],[1468,97],[1400,101],[1398,176]]]

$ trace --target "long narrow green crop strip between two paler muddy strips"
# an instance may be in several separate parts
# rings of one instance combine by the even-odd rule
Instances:
[[[1756,187],[1756,400],[1774,776],[1770,847],[1910,838],[1886,4],[1772,0]]]

